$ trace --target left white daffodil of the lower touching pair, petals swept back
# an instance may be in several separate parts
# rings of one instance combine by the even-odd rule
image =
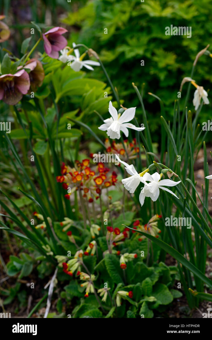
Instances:
[[[122,183],[124,184],[125,189],[127,189],[130,193],[134,193],[138,185],[143,182],[143,177],[141,177],[136,169],[134,168],[133,164],[128,165],[125,162],[122,162],[122,160],[116,155],[116,158],[118,161],[125,165],[125,169],[131,177],[125,178],[122,180]]]

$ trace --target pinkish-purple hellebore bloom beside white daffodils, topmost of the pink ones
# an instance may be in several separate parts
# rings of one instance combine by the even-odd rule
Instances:
[[[65,28],[54,27],[43,34],[43,47],[49,57],[58,59],[59,51],[67,45],[67,40],[62,34],[68,32]]]

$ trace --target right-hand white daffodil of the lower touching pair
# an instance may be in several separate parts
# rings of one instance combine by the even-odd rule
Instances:
[[[153,202],[157,201],[159,193],[160,193],[159,188],[162,189],[162,190],[170,192],[172,195],[174,195],[176,198],[178,198],[175,195],[175,193],[173,193],[171,190],[169,190],[167,188],[163,188],[163,186],[166,185],[168,187],[173,187],[173,186],[179,184],[181,181],[179,181],[179,182],[174,182],[172,180],[161,180],[160,181],[160,175],[159,175],[158,172],[155,172],[152,175],[150,175],[149,173],[146,172],[143,175],[143,181],[145,182],[145,185],[144,185],[144,187],[141,190],[141,193],[139,195],[139,200],[140,200],[141,206],[144,204],[145,197],[150,197]],[[146,181],[148,181],[149,183],[146,183]]]

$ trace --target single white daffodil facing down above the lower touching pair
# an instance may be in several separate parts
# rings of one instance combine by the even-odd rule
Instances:
[[[145,128],[137,128],[137,126],[128,123],[135,117],[136,107],[127,108],[123,114],[118,114],[117,109],[112,106],[110,101],[109,103],[109,113],[111,115],[110,118],[104,120],[105,124],[102,124],[98,129],[102,131],[107,130],[108,137],[114,139],[119,139],[121,137],[120,131],[124,132],[125,136],[128,137],[129,129],[133,129],[136,131],[143,131]]]

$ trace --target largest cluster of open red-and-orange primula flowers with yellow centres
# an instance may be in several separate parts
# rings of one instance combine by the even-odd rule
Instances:
[[[91,203],[93,197],[98,199],[102,189],[115,185],[118,179],[116,172],[113,171],[110,174],[109,169],[103,163],[98,163],[95,171],[91,170],[89,163],[89,159],[83,159],[82,163],[76,160],[74,168],[63,163],[61,175],[57,176],[56,180],[63,183],[63,188],[66,190],[69,189],[71,192],[75,190],[83,191],[82,197]],[[68,192],[65,198],[70,199],[71,192]]]

